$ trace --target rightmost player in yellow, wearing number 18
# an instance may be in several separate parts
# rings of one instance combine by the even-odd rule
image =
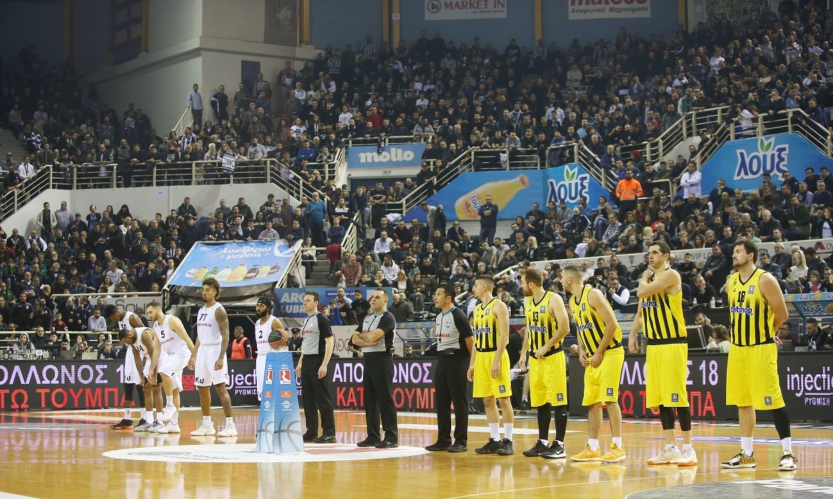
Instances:
[[[778,469],[796,469],[792,454],[790,417],[786,413],[781,385],[778,383],[778,344],[776,332],[787,319],[784,295],[776,278],[756,267],[758,247],[749,240],[732,245],[732,265],[737,269],[726,280],[731,320],[731,347],[726,366],[726,404],[736,405],[741,420],[741,452],[725,468],[755,467],[752,432],[755,411],[772,411],[778,437],[781,438],[781,462]]]

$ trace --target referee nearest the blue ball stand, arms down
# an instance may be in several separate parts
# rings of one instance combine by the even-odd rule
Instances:
[[[307,432],[304,442],[336,442],[336,418],[333,413],[330,380],[327,378],[327,364],[330,363],[335,338],[332,335],[330,320],[318,312],[318,294],[315,291],[304,293],[304,312],[307,319],[301,329],[301,358],[295,368],[295,375],[301,378],[303,390],[304,417],[307,419]],[[321,413],[323,434],[318,436],[318,413]]]

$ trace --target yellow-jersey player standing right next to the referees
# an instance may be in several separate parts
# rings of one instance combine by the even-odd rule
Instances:
[[[500,299],[496,299],[491,290],[495,279],[491,275],[481,275],[474,280],[472,291],[480,299],[474,309],[471,326],[474,329],[475,348],[471,351],[468,379],[474,382],[473,397],[482,398],[486,408],[486,422],[489,423],[489,442],[474,452],[478,454],[497,454],[511,456],[515,453],[512,444],[512,430],[515,427],[515,413],[512,412],[511,382],[509,378],[509,309]],[[497,403],[503,411],[504,437],[501,441],[500,413]]]

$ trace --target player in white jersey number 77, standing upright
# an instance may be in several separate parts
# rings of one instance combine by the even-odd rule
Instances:
[[[202,281],[202,300],[206,303],[197,314],[197,354],[188,362],[188,368],[194,370],[194,385],[200,393],[202,408],[202,426],[191,432],[194,437],[213,435],[214,423],[211,420],[211,387],[217,390],[222,403],[222,412],[226,415],[226,427],[217,432],[217,437],[237,437],[237,427],[232,419],[232,398],[228,396],[228,315],[226,309],[217,303],[220,296],[220,283],[209,277]]]

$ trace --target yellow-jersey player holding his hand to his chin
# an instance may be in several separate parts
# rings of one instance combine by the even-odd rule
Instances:
[[[694,466],[697,454],[691,446],[691,408],[688,406],[688,338],[682,314],[682,280],[668,263],[671,248],[658,241],[648,248],[648,268],[642,274],[636,296],[639,308],[633,321],[628,347],[639,353],[636,333],[645,332],[648,348],[645,359],[646,407],[659,409],[666,448],[648,464]],[[680,417],[682,452],[676,446],[674,409]]]

